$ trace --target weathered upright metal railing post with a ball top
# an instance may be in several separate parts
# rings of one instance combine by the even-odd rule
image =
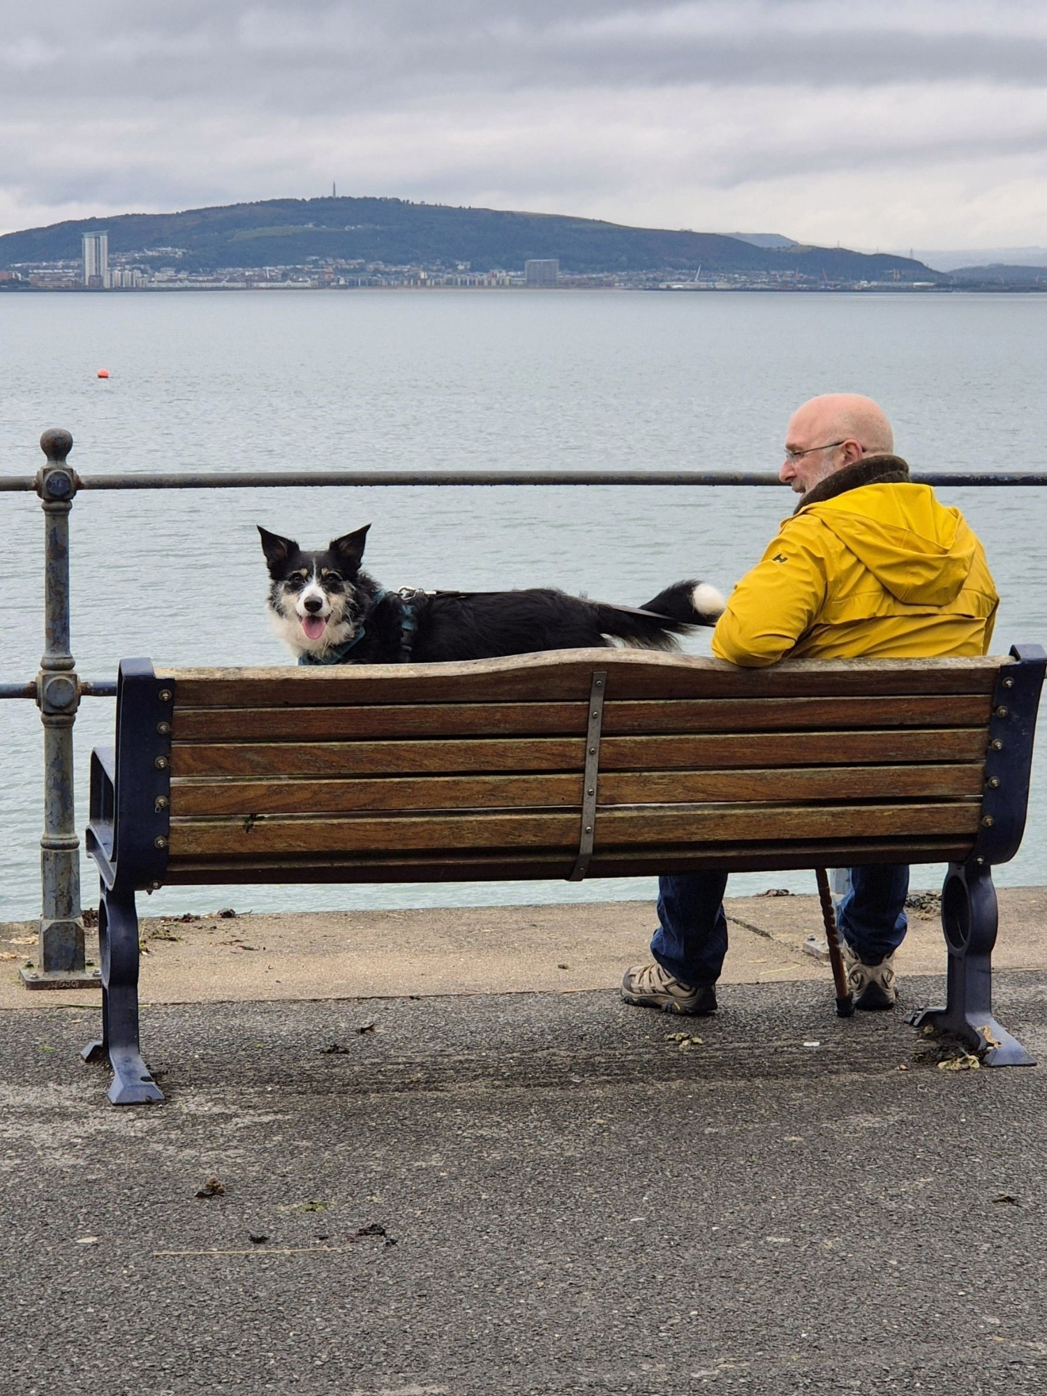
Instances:
[[[96,984],[98,969],[84,958],[80,910],[80,839],[73,801],[73,725],[80,680],[70,652],[68,515],[77,475],[66,463],[68,431],[45,431],[47,463],[36,476],[43,507],[45,639],[36,702],[43,722],[43,836],[40,838],[40,913],[36,963],[22,970],[27,988],[82,988]]]

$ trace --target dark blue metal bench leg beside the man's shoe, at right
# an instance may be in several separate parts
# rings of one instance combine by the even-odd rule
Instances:
[[[997,892],[988,864],[949,864],[941,921],[949,951],[945,1008],[924,1008],[907,1020],[959,1037],[986,1067],[1034,1067],[1036,1060],[993,1016]]]

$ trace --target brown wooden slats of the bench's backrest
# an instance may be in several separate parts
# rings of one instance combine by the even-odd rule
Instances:
[[[1001,663],[570,651],[170,670],[169,881],[567,877],[595,669],[591,875],[965,857]]]

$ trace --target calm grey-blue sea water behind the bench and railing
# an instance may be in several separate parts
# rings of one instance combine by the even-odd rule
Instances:
[[[110,377],[99,380],[99,369]],[[920,470],[1047,469],[1047,299],[977,295],[269,292],[0,296],[0,472],[67,427],[82,475],[131,470],[775,470],[805,398],[867,392]],[[1002,596],[994,651],[1046,642],[1047,490],[944,490]],[[267,489],[84,493],[71,514],[73,651],[281,664],[254,525],[322,546],[370,522],[387,586],[554,585],[637,604],[701,577],[729,591],[794,498],[778,489]],[[0,681],[43,648],[39,501],[1,494]],[[688,645],[708,652],[708,635]],[[77,719],[88,752],[113,704]],[[39,913],[40,723],[0,704],[0,920]],[[1047,882],[1047,771],[1002,884]],[[940,868],[914,870],[937,885]],[[84,902],[95,900],[84,864]],[[733,891],[812,891],[812,874]],[[651,879],[173,888],[155,912],[648,898]]]

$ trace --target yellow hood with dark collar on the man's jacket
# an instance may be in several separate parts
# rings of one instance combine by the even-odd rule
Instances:
[[[840,479],[854,469],[847,466],[822,482],[836,484],[831,497],[811,498],[812,490],[799,512],[835,533],[899,602],[946,606],[955,600],[977,547],[959,510],[940,504],[928,484],[907,482],[909,468],[898,456],[866,458],[856,466],[861,469],[854,484]]]

